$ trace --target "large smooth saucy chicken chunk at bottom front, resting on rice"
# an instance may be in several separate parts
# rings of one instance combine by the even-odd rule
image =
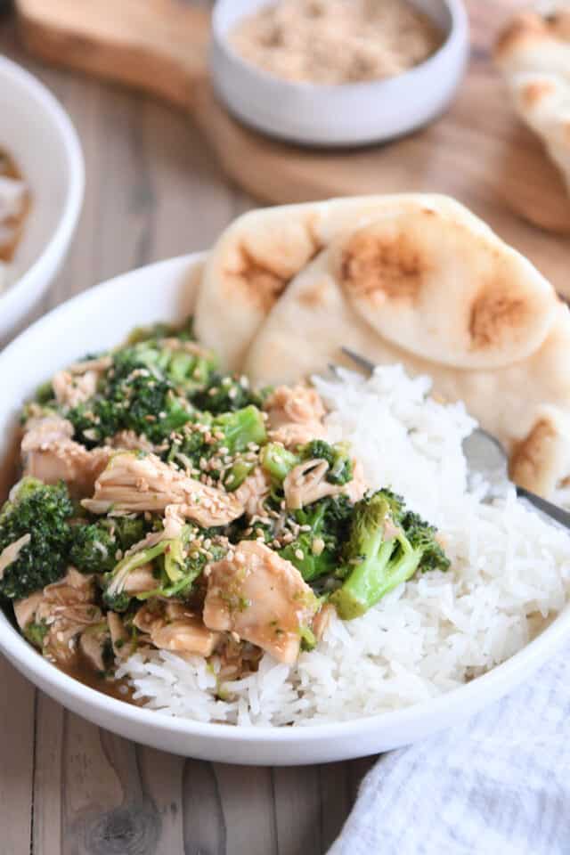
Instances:
[[[235,632],[275,659],[293,664],[301,631],[319,604],[297,568],[263,543],[242,541],[210,566],[204,623]]]

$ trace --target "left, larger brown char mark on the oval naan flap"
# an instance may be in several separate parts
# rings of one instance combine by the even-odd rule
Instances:
[[[419,296],[427,266],[403,232],[379,237],[362,231],[346,245],[341,279],[355,297],[377,304],[387,299],[413,302]]]

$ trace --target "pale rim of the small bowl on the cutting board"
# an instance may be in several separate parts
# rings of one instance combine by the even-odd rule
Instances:
[[[380,77],[376,80],[361,80],[354,83],[314,83],[310,80],[288,80],[285,77],[271,74],[271,72],[256,66],[253,62],[245,60],[240,53],[233,47],[232,42],[227,37],[220,23],[220,16],[224,12],[225,5],[229,5],[233,0],[216,0],[211,18],[211,39],[218,48],[231,59],[234,65],[238,66],[240,72],[247,74],[251,80],[256,82],[256,85],[263,85],[268,92],[278,94],[284,87],[291,94],[305,96],[307,94],[324,94],[325,96],[335,97],[342,94],[382,94],[390,96],[390,89],[399,88],[400,85],[414,85],[418,82],[418,78],[426,69],[431,69],[441,61],[444,54],[449,53],[452,45],[456,42],[465,42],[468,37],[468,14],[463,3],[463,0],[441,0],[445,8],[450,14],[450,26],[445,33],[444,41],[434,53],[430,53],[427,59],[419,62],[417,65],[411,66],[410,69],[402,71],[393,77]],[[265,5],[272,4],[272,0],[266,0]],[[245,17],[241,15],[240,17]]]

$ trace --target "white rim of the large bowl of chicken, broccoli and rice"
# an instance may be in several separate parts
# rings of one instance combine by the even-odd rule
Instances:
[[[13,339],[12,343],[0,353],[0,372],[4,361],[10,361],[12,353],[18,354],[20,349],[28,351],[29,346],[33,345],[37,332],[49,328],[54,318],[70,313],[75,314],[81,319],[81,322],[85,323],[85,319],[94,316],[94,313],[89,311],[90,304],[93,304],[93,308],[100,308],[105,302],[107,305],[112,305],[105,300],[105,297],[116,292],[117,289],[132,289],[137,277],[142,273],[153,273],[156,282],[153,287],[160,288],[160,274],[163,271],[172,270],[175,273],[188,273],[204,257],[204,253],[191,253],[153,265],[145,265],[71,297]],[[205,740],[216,739],[216,741],[222,740],[229,743],[243,742],[248,745],[266,744],[267,742],[299,745],[320,743],[335,737],[363,737],[382,730],[411,729],[414,724],[419,725],[423,718],[438,719],[441,717],[443,722],[441,727],[443,728],[446,725],[445,718],[449,718],[450,712],[460,713],[461,709],[467,706],[468,711],[474,714],[490,702],[489,696],[492,700],[496,700],[507,694],[518,683],[525,680],[525,675],[530,676],[532,672],[546,663],[550,655],[554,654],[569,636],[570,603],[562,608],[545,630],[504,663],[496,665],[492,671],[486,672],[458,688],[453,688],[449,692],[444,692],[442,695],[430,697],[398,710],[377,713],[349,721],[324,722],[297,727],[258,727],[175,718],[164,712],[137,707],[104,695],[94,688],[85,686],[79,680],[69,677],[55,665],[47,662],[12,626],[6,615],[0,615],[0,652],[4,653],[16,668],[24,672],[28,679],[44,688],[60,703],[67,705],[77,702],[81,708],[87,705],[89,710],[93,711],[94,721],[98,721],[100,717],[109,716],[114,721],[120,721],[123,725],[129,723],[145,725],[165,734],[175,733],[179,737],[203,737]],[[522,678],[521,674],[523,675]],[[76,707],[76,712],[79,712],[78,707]],[[100,714],[99,717],[97,713]],[[85,712],[79,712],[79,714],[89,717]],[[468,716],[460,716],[460,721],[467,718]],[[435,729],[430,729],[430,732]]]

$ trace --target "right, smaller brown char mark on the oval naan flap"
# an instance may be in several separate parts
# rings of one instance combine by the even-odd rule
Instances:
[[[526,304],[521,297],[510,297],[504,291],[485,289],[476,297],[469,316],[469,335],[474,350],[497,347],[513,338],[525,322]]]

